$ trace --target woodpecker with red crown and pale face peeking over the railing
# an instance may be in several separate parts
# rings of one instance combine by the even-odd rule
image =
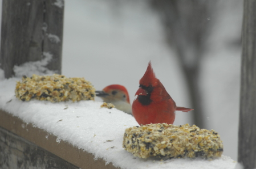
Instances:
[[[112,103],[115,107],[125,113],[132,115],[132,105],[130,104],[128,91],[120,84],[111,84],[102,91],[95,91],[106,103]]]

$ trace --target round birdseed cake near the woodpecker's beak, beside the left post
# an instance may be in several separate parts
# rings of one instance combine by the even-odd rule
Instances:
[[[66,78],[64,75],[36,75],[23,76],[17,82],[15,95],[22,101],[31,99],[63,102],[72,100],[94,100],[95,88],[84,78]]]

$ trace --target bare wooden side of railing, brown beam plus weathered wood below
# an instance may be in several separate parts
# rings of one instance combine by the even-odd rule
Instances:
[[[10,113],[0,110],[0,117],[1,168],[116,168]]]

